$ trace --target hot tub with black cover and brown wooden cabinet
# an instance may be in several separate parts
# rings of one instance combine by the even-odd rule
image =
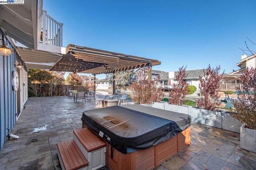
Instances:
[[[150,170],[190,145],[186,114],[133,104],[87,110],[82,122],[107,142],[111,170]]]

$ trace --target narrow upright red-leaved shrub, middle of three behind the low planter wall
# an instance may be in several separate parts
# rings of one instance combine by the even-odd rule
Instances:
[[[183,105],[184,102],[186,101],[186,95],[189,92],[188,89],[188,83],[186,80],[184,80],[187,76],[188,73],[186,73],[186,68],[179,68],[178,75],[176,76],[177,83],[173,84],[173,89],[169,91],[169,96],[168,98],[170,104],[174,105]]]

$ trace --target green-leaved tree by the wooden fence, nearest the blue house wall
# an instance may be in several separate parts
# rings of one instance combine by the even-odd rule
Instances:
[[[28,71],[28,91],[32,92],[34,96],[38,96],[42,92],[42,85],[49,83],[52,80],[50,71],[30,69]]]

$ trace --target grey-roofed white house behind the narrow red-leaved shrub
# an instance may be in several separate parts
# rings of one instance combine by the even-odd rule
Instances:
[[[196,86],[196,88],[199,89],[199,76],[204,75],[204,69],[186,70],[186,73],[188,73],[188,76],[184,80],[186,80],[189,85]],[[162,74],[160,74],[160,86],[162,86],[163,88],[172,88],[173,84],[177,83],[177,75],[178,72],[163,72]]]

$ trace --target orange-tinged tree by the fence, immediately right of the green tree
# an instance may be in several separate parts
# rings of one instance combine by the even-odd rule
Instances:
[[[64,72],[51,72],[52,79],[49,80],[49,90],[50,96],[52,96],[53,91],[57,86],[61,86],[64,82]]]

